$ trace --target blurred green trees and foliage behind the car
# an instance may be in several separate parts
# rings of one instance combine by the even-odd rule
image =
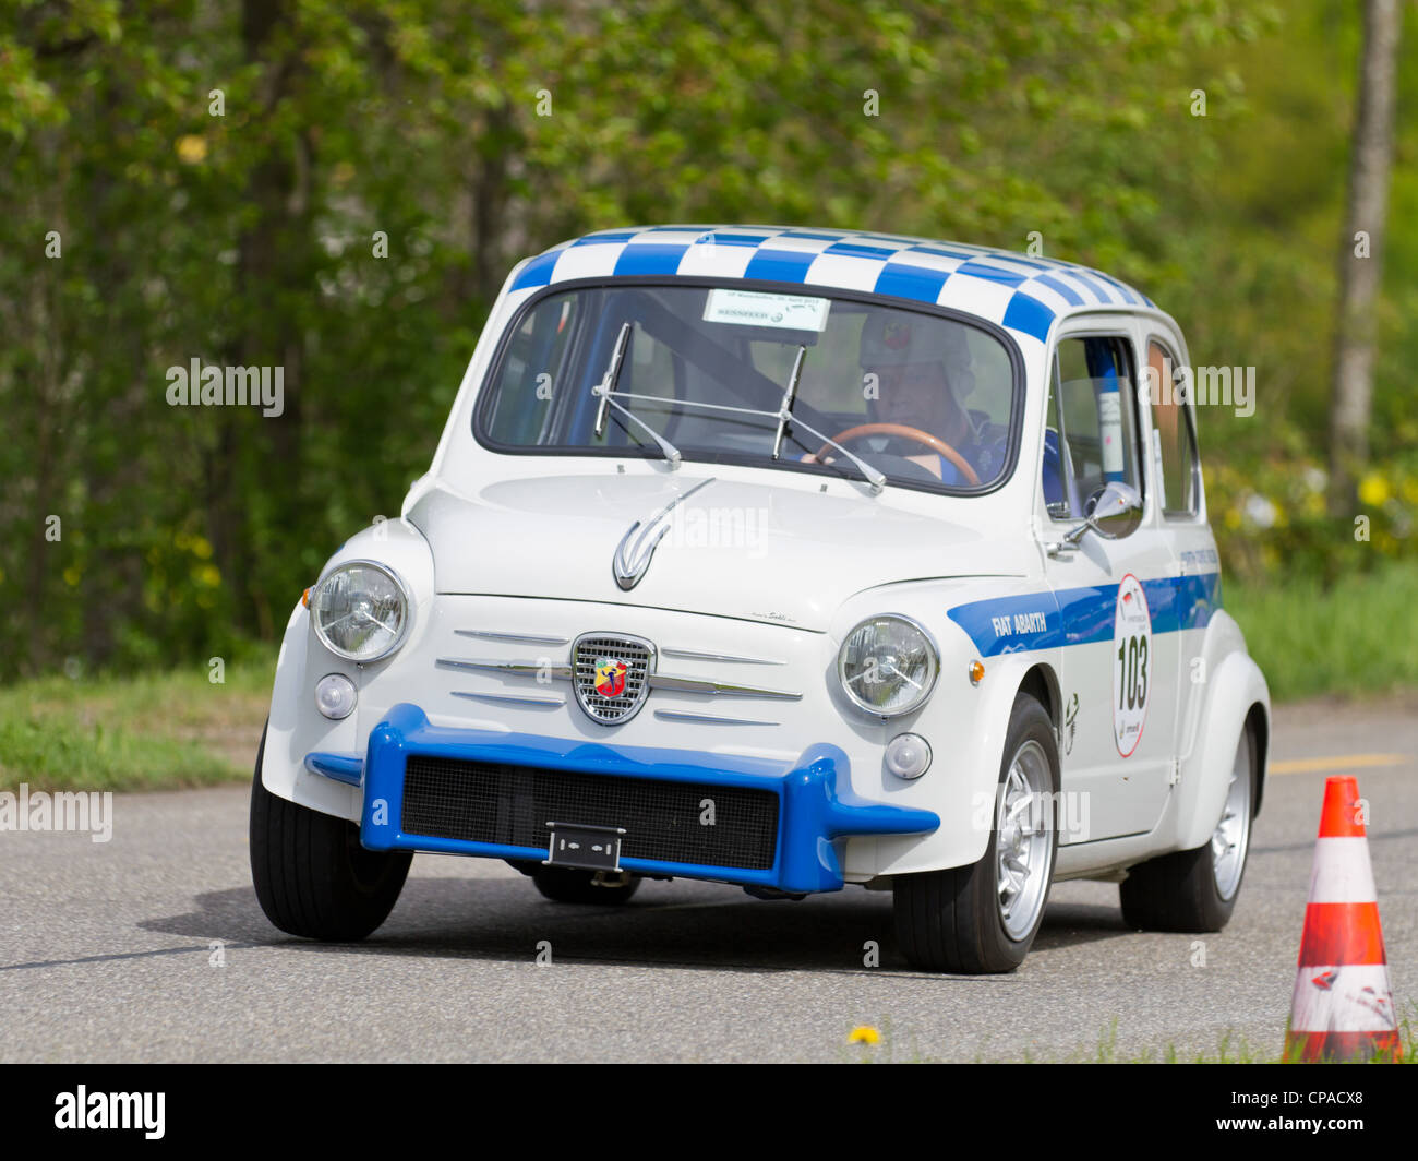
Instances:
[[[1408,569],[1414,18],[1370,539],[1324,508],[1361,33],[1340,0],[0,0],[0,678],[268,653],[425,470],[510,265],[627,223],[1038,231],[1256,368],[1254,416],[1198,409],[1228,583]],[[284,366],[285,413],[167,406],[194,358]]]

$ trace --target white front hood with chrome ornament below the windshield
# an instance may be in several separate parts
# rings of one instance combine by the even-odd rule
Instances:
[[[818,632],[862,589],[1027,568],[1020,529],[1007,544],[1004,529],[987,538],[873,500],[683,471],[510,480],[472,498],[435,488],[408,519],[432,546],[441,593],[645,605]],[[631,588],[615,578],[623,542],[623,572],[644,565]]]

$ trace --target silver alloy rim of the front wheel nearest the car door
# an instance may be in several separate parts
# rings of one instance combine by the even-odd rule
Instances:
[[[1011,940],[1032,930],[1048,893],[1054,863],[1049,759],[1037,741],[1010,761],[995,810],[995,887],[1000,920]]]

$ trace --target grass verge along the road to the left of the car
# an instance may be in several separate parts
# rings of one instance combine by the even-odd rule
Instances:
[[[0,688],[0,791],[160,791],[251,776],[271,698],[264,664]]]

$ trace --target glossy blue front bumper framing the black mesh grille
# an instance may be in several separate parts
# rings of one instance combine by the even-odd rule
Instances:
[[[637,874],[710,879],[790,893],[837,891],[844,883],[839,857],[844,839],[855,835],[917,835],[940,826],[939,816],[930,810],[888,806],[854,795],[847,755],[834,745],[811,745],[795,762],[783,764],[689,749],[445,730],[430,725],[424,711],[407,703],[391,708],[370,731],[363,762],[357,755],[309,754],[305,765],[326,778],[363,785],[360,842],[370,850],[425,850],[533,862],[546,857],[546,846],[501,846],[406,833],[404,765],[413,755],[777,793],[777,846],[770,869],[623,857],[621,867]]]

